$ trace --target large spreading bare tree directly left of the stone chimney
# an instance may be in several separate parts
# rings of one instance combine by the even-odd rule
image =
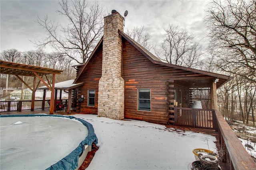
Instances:
[[[57,13],[66,18],[68,24],[58,25],[48,20],[47,15],[38,17],[39,26],[48,36],[35,43],[40,48],[50,44],[56,53],[85,63],[103,34],[103,7],[98,2],[86,0],[62,0],[59,4],[61,9]]]

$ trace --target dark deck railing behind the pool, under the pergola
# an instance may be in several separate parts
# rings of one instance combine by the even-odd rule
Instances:
[[[64,105],[68,104],[68,99],[62,99]],[[47,100],[35,100],[34,109],[49,109]],[[28,111],[31,109],[31,100],[20,101],[0,101],[0,112]]]

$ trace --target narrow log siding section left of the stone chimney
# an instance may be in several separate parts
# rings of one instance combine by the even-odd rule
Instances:
[[[102,45],[98,48],[94,56],[86,65],[81,78],[77,83],[84,82],[84,85],[79,88],[78,97],[84,95],[84,102],[78,103],[79,110],[83,113],[98,113],[98,86],[102,74]],[[95,107],[87,106],[88,89],[95,89]]]

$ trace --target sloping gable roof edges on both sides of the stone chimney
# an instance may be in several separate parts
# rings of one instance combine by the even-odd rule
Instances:
[[[134,41],[132,38],[130,38],[127,34],[125,34],[124,32],[118,30],[118,33],[128,42],[130,42],[136,49],[138,49],[138,51],[140,51],[143,55],[145,55],[152,63],[158,64],[158,65],[164,65],[167,67],[172,67],[172,68],[176,68],[176,69],[181,69],[184,71],[189,71],[189,72],[193,72],[193,73],[198,73],[200,75],[206,75],[206,76],[210,76],[210,77],[216,77],[219,79],[219,81],[217,82],[217,88],[221,87],[222,85],[224,85],[226,82],[230,81],[231,79],[233,79],[233,77],[227,76],[227,75],[222,75],[222,74],[218,74],[218,73],[212,73],[212,72],[208,72],[208,71],[202,71],[202,70],[198,70],[198,69],[192,69],[192,68],[188,68],[188,67],[184,67],[184,66],[179,66],[179,65],[174,65],[174,64],[170,64],[170,63],[164,63],[161,59],[159,59],[158,57],[156,57],[154,54],[150,53],[150,51],[148,51],[147,49],[145,49],[144,47],[142,47],[139,43],[137,43],[136,41]],[[84,71],[84,69],[86,68],[86,65],[88,64],[88,62],[90,61],[90,59],[92,58],[92,56],[94,55],[95,51],[98,49],[98,47],[100,46],[100,44],[103,42],[103,36],[100,40],[100,42],[97,44],[97,46],[95,47],[94,51],[92,52],[92,54],[90,55],[90,57],[88,58],[88,60],[86,61],[86,63],[84,64],[82,70],[80,71],[80,73],[78,74],[78,76],[76,77],[74,83],[76,83],[76,81],[79,79],[79,77],[82,75],[82,72]]]

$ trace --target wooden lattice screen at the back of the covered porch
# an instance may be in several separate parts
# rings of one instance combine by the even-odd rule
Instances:
[[[192,107],[194,101],[201,101],[203,109],[211,109],[210,105],[210,88],[190,88],[190,107]]]

